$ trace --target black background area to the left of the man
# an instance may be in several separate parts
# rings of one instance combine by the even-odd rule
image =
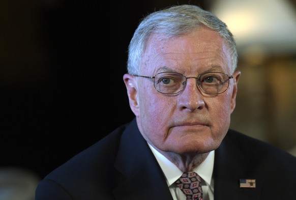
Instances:
[[[133,32],[146,13],[184,3],[3,1],[0,166],[42,178],[130,121],[122,77]]]

